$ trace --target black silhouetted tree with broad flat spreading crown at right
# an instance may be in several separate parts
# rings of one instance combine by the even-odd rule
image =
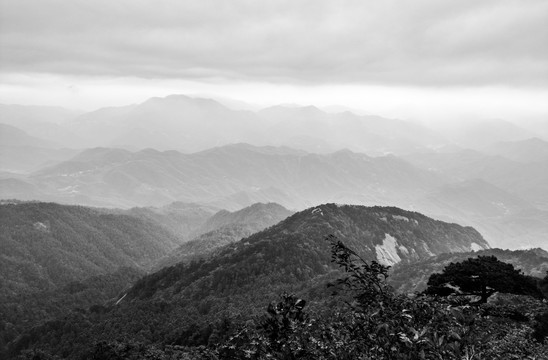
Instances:
[[[512,264],[499,261],[495,256],[478,256],[460,263],[451,263],[442,273],[428,279],[427,294],[447,296],[450,294],[480,296],[486,303],[495,292],[526,294],[530,289],[529,279],[514,269]]]

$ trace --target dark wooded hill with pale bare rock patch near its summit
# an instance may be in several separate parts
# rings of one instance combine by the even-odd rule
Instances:
[[[262,313],[283,291],[321,306],[331,301],[326,283],[340,275],[331,262],[329,234],[352,244],[365,259],[386,264],[488,246],[472,228],[414,212],[321,205],[220,248],[207,260],[147,275],[105,313],[71,313],[36,327],[24,342],[10,344],[10,351],[38,346],[78,357],[89,351],[90,339],[206,345]]]

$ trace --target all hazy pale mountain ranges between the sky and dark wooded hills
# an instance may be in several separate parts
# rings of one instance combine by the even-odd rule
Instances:
[[[493,246],[546,246],[548,142],[503,120],[433,130],[184,95],[86,113],[2,105],[0,115],[4,199],[228,211],[257,202],[393,205],[473,225]]]

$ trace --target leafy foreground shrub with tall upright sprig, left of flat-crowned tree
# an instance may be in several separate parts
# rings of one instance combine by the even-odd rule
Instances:
[[[334,241],[333,261],[350,274],[339,281],[353,292],[351,338],[355,356],[375,359],[459,358],[473,336],[476,314],[447,308],[427,297],[396,295],[386,285],[388,268],[366,263],[344,244]],[[358,264],[356,264],[358,263]]]

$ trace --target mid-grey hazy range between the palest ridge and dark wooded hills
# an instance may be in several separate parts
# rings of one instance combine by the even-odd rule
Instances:
[[[0,179],[0,193],[126,208],[174,201],[229,211],[256,202],[295,210],[325,202],[397,205],[473,225],[493,245],[517,248],[546,246],[546,176],[542,163],[472,150],[401,159],[248,144],[193,154],[95,148],[27,176]]]

